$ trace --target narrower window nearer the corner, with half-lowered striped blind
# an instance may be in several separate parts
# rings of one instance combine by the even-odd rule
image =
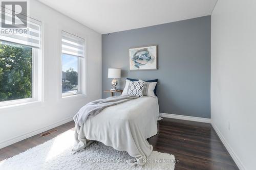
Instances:
[[[62,96],[83,93],[84,40],[62,31]]]

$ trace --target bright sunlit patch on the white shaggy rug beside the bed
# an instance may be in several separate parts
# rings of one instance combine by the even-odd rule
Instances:
[[[54,157],[56,157],[57,155],[60,155],[62,152],[66,151],[67,149],[69,149],[70,146],[73,145],[75,142],[73,136],[74,136],[73,130],[68,130],[65,133],[58,135],[54,139],[54,143],[52,144],[52,147],[45,161],[47,162],[53,159]]]

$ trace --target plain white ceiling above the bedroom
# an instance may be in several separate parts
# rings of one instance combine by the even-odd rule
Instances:
[[[98,33],[211,15],[217,0],[38,0]]]

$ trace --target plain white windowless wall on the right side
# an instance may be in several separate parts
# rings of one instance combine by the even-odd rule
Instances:
[[[251,0],[219,0],[211,16],[211,118],[240,169],[256,159],[255,16]]]

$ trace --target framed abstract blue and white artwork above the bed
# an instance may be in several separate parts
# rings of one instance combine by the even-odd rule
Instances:
[[[157,69],[157,45],[129,49],[130,70]]]

